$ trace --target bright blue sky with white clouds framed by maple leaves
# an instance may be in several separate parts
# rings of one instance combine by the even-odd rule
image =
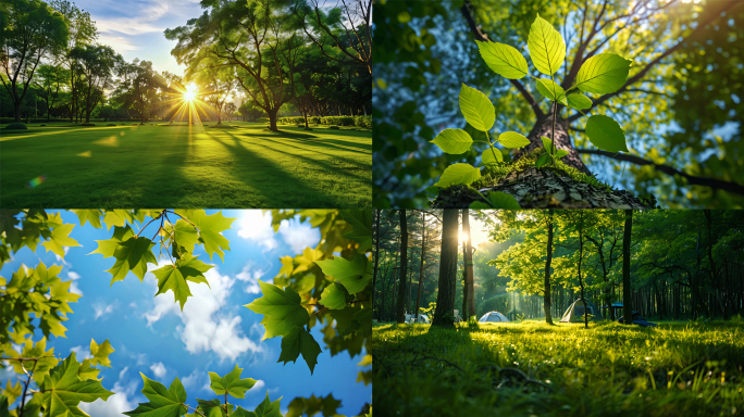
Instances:
[[[196,406],[196,397],[215,397],[209,389],[207,372],[224,375],[235,364],[244,368],[243,378],[260,380],[245,400],[235,400],[248,409],[256,408],[269,391],[272,400],[283,396],[283,410],[296,396],[333,393],[342,401],[339,414],[359,413],[364,403],[372,401],[372,387],[356,382],[357,372],[362,370],[356,365],[361,356],[350,358],[340,353],[331,357],[324,350],[312,376],[301,357],[297,364],[277,364],[281,338],[261,341],[261,316],[243,307],[261,296],[257,280],[270,281],[281,267],[280,257],[294,256],[306,247],[318,244],[319,231],[309,224],[292,220],[283,222],[274,233],[271,213],[264,216],[258,210],[222,212],[226,217],[237,217],[233,228],[223,232],[231,251],[225,252],[224,263],[218,255],[210,262],[198,248],[195,254],[200,260],[216,265],[207,273],[211,290],[203,283],[189,283],[195,296],[188,299],[183,313],[172,292],[153,298],[157,286],[152,274],[148,273],[140,282],[129,273],[126,279],[110,287],[111,274],[106,269],[113,265],[113,258],[88,253],[98,247],[95,240],[110,239],[112,231],[95,229],[89,224],[80,227],[74,213],[62,212],[62,218],[76,224],[70,236],[80,248],[70,248],[63,261],[42,247],[35,253],[23,249],[3,265],[0,274],[9,277],[21,264],[33,267],[41,261],[48,266],[63,264],[60,277],[74,280],[71,290],[83,296],[71,304],[75,313],[63,323],[66,338],[51,337],[48,346],[54,348],[58,357],[75,351],[79,358],[89,353],[91,338],[98,343],[110,340],[115,349],[109,357],[112,367],[102,368],[100,376],[103,387],[116,395],[107,402],[83,404],[82,408],[91,416],[121,416],[121,412],[134,409],[138,402],[147,402],[140,393],[139,372],[165,386],[178,377],[188,402]],[[150,269],[154,268],[150,265]],[[320,329],[313,328],[312,333],[325,348]],[[0,371],[3,386],[8,377]]]

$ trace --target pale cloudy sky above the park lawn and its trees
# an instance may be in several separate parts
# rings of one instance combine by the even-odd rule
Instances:
[[[158,72],[183,75],[185,66],[171,56],[176,42],[165,39],[163,30],[199,17],[203,12],[199,1],[76,0],[75,4],[96,21],[98,41],[112,47],[126,61],[139,58],[151,61]]]

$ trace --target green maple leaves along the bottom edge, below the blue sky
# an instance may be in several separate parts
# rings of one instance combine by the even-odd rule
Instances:
[[[186,417],[282,417],[280,412],[280,401],[282,399],[280,397],[272,402],[269,399],[268,391],[263,402],[253,412],[249,412],[240,406],[235,407],[234,404],[227,402],[227,395],[244,399],[246,391],[253,388],[257,382],[252,378],[240,378],[240,374],[243,374],[243,369],[238,368],[237,365],[224,377],[215,372],[209,372],[209,388],[216,395],[224,395],[225,401],[222,403],[220,399],[197,399],[198,405],[196,407],[186,404],[186,390],[178,378],[175,378],[171,386],[165,388],[162,383],[140,374],[145,381],[142,394],[145,394],[149,402],[139,403],[137,408],[124,414],[132,417],[178,417],[190,409],[194,413],[186,414]]]

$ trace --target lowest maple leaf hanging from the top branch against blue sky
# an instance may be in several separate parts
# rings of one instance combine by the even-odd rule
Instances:
[[[158,294],[164,294],[166,291],[173,291],[173,296],[176,302],[181,304],[181,309],[184,309],[186,300],[191,296],[188,282],[206,283],[207,278],[204,273],[210,270],[213,265],[207,265],[198,260],[199,256],[186,255],[183,260],[176,261],[174,265],[165,265],[152,271],[158,278]]]

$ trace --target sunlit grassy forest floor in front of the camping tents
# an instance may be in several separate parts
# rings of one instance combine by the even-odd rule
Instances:
[[[373,332],[379,416],[744,415],[744,320]]]

